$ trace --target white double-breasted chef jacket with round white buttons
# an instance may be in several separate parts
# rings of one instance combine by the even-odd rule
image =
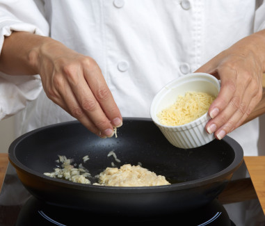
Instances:
[[[93,57],[123,117],[150,118],[156,92],[234,42],[265,29],[257,0],[0,0],[0,52],[12,31],[49,35]],[[17,136],[74,120],[51,102],[40,77],[0,74],[0,120],[16,114]],[[258,119],[230,136],[258,154]]]

